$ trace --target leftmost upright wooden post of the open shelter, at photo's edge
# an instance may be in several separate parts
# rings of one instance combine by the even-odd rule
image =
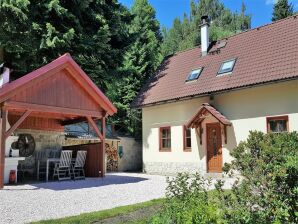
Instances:
[[[6,118],[7,111],[2,107],[0,122],[0,189],[4,187]]]

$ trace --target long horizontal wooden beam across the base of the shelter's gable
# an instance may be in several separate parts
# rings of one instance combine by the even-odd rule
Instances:
[[[65,108],[65,107],[55,107],[48,105],[39,105],[32,103],[23,103],[17,101],[7,101],[4,103],[4,107],[7,110],[13,109],[21,109],[28,110],[30,109],[32,112],[43,112],[43,113],[53,113],[53,114],[66,114],[66,115],[74,115],[74,116],[92,116],[92,117],[101,117],[101,111],[90,111],[90,110],[82,110],[82,109],[73,109],[73,108]]]

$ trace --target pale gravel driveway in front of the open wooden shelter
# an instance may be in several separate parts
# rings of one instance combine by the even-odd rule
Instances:
[[[0,223],[61,218],[164,197],[165,180],[113,173],[103,179],[6,186],[0,190]]]

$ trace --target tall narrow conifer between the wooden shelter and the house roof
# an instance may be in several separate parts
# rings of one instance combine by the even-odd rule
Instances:
[[[119,69],[122,79],[114,81],[108,94],[118,108],[114,117],[116,128],[123,132],[140,134],[140,113],[131,110],[130,104],[162,60],[161,34],[155,10],[148,0],[135,0],[131,13],[133,20],[129,30],[133,42]]]

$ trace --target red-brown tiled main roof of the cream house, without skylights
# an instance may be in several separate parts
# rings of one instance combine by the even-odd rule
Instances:
[[[165,59],[134,106],[298,78],[298,16],[223,39],[209,52],[223,42],[226,45],[219,53],[201,57],[196,47]],[[232,58],[237,58],[232,74],[216,76],[221,63]],[[185,83],[198,67],[204,67],[198,80]]]

